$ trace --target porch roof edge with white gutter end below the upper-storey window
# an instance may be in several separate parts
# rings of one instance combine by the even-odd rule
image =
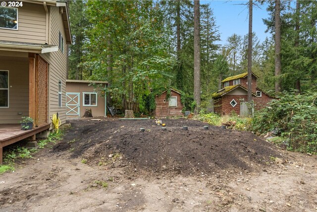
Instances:
[[[49,53],[58,51],[58,46],[36,43],[1,41],[0,50],[14,52]]]

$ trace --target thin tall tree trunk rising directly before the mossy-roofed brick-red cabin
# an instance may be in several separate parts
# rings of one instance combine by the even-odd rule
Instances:
[[[248,102],[252,102],[252,11],[253,2],[249,0],[249,39],[248,39]]]

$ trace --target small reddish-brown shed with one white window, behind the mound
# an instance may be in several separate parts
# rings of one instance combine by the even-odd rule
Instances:
[[[184,116],[182,113],[183,104],[180,99],[180,92],[175,89],[170,89],[170,96],[166,99],[167,90],[162,92],[160,95],[155,96],[155,116],[166,117],[166,116]]]

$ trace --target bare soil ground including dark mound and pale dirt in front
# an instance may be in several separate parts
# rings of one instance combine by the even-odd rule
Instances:
[[[71,121],[53,148],[0,175],[0,211],[317,211],[316,155],[199,121],[163,123]]]

